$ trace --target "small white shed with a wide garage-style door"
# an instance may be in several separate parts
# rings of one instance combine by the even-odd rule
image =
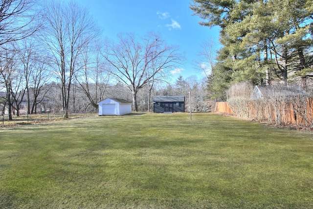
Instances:
[[[99,116],[121,116],[132,112],[132,103],[124,99],[107,98],[99,102]]]

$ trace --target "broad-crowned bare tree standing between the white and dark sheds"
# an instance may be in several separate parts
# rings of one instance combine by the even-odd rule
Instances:
[[[138,111],[138,91],[152,80],[161,78],[182,59],[177,47],[167,46],[155,33],[142,38],[132,33],[119,34],[117,44],[106,43],[103,57],[110,65],[110,72],[116,81],[133,94],[134,111]]]

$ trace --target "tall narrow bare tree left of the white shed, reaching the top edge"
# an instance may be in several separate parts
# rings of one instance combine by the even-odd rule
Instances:
[[[99,30],[86,8],[74,1],[49,1],[45,7],[44,42],[50,49],[53,67],[62,89],[63,117],[68,117],[70,87],[80,70],[78,57],[97,37]]]

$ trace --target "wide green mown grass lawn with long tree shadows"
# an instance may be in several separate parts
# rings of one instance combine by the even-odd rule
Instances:
[[[313,134],[207,113],[1,128],[4,208],[313,208]]]

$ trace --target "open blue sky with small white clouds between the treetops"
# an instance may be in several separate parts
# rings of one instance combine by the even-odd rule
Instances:
[[[134,32],[143,36],[149,31],[159,33],[170,45],[179,45],[186,60],[173,69],[173,80],[179,75],[184,79],[196,75],[201,43],[213,40],[218,47],[219,29],[199,25],[200,18],[192,16],[191,0],[76,0],[89,8],[94,20],[111,39],[120,32]]]

